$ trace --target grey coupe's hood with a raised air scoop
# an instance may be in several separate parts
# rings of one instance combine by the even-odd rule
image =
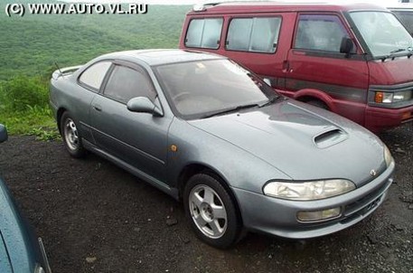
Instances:
[[[345,178],[361,186],[371,181],[371,170],[379,174],[385,169],[384,146],[377,136],[292,99],[190,124],[257,156],[292,180]]]

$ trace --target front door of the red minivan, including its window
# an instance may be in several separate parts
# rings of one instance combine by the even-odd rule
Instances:
[[[286,64],[286,89],[324,91],[334,99],[337,112],[362,124],[369,71],[360,48],[354,45],[350,56],[340,52],[343,37],[352,35],[341,15],[298,14]]]

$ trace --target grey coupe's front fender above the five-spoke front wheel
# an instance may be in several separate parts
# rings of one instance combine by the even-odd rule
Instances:
[[[191,164],[204,165],[230,187],[262,193],[262,186],[271,179],[291,179],[273,165],[251,155],[239,146],[213,136],[188,122],[175,118],[169,130],[168,146],[176,146],[168,154],[168,182],[179,187],[183,169]]]

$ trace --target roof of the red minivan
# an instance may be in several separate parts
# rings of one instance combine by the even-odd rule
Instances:
[[[204,4],[202,11],[191,11],[188,14],[242,14],[268,12],[348,12],[354,10],[382,10],[382,5],[368,3],[328,3],[328,2],[227,2]]]

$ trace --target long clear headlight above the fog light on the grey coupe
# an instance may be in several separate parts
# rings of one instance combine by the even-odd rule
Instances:
[[[348,193],[356,188],[349,180],[332,179],[311,182],[270,182],[264,186],[263,192],[289,200],[318,200]]]

